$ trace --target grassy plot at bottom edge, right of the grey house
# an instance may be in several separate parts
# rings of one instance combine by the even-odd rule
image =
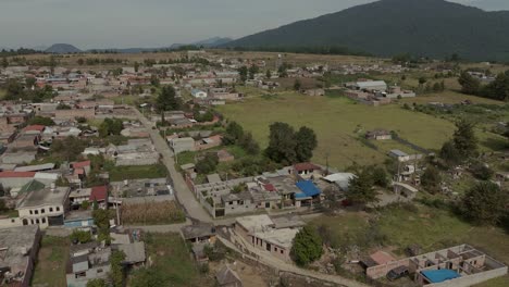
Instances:
[[[145,242],[147,258],[153,262],[150,266],[151,276],[159,278],[158,286],[213,286],[213,280],[200,277],[189,249],[178,234],[147,234]],[[140,276],[140,272],[142,270],[135,272],[133,277]]]

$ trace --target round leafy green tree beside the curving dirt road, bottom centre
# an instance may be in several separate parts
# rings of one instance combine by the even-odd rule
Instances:
[[[314,227],[307,225],[294,238],[291,258],[297,265],[307,266],[322,257],[322,238]]]

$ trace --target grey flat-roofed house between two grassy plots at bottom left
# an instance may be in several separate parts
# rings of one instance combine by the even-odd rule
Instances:
[[[110,272],[111,248],[96,242],[71,246],[66,269],[67,286],[86,287],[92,279],[105,279]]]

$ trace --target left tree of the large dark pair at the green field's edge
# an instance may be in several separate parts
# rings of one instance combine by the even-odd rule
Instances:
[[[295,130],[290,125],[276,122],[270,126],[269,147],[265,150],[269,159],[283,164],[296,163],[296,147]]]

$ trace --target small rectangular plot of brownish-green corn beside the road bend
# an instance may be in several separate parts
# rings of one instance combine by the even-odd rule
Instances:
[[[157,225],[185,221],[182,209],[175,201],[131,203],[121,209],[123,224]]]

